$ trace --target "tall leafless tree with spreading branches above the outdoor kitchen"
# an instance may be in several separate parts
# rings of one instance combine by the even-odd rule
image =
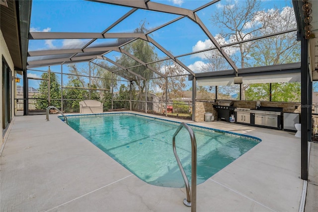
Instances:
[[[227,2],[223,9],[211,15],[212,24],[222,29],[220,34],[216,36],[221,45],[296,28],[292,7],[286,6],[282,10],[273,8],[265,11],[260,8],[260,0],[231,0]],[[295,50],[298,50],[299,46],[295,34],[286,33],[226,48],[225,50],[238,67],[244,68],[295,62],[295,58],[298,57]],[[218,56],[222,57],[220,54]],[[213,55],[208,55],[207,58],[211,64],[220,63],[220,59],[214,59]],[[241,86],[242,100],[245,99],[244,91],[248,87],[249,84]]]

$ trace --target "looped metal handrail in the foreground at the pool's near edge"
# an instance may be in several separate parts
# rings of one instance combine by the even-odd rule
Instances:
[[[187,175],[184,172],[184,169],[182,167],[182,164],[179,160],[179,157],[177,155],[176,149],[175,149],[175,137],[180,132],[182,127],[185,127],[185,129],[189,132],[190,138],[191,138],[191,146],[192,146],[192,156],[191,156],[191,190],[189,186],[189,180],[187,178]],[[177,163],[179,165],[184,183],[185,183],[185,189],[187,193],[187,198],[183,200],[183,204],[187,207],[191,207],[191,212],[196,211],[196,196],[197,196],[197,146],[196,146],[196,140],[193,130],[185,123],[181,123],[178,129],[175,131],[173,138],[172,138],[172,147],[173,147],[173,153],[175,156],[175,159],[177,160]]]

